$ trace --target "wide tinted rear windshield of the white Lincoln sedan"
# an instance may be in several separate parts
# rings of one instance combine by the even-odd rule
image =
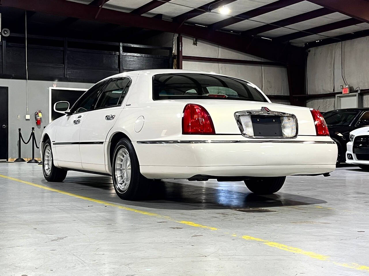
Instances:
[[[158,74],[153,80],[154,100],[219,99],[268,102],[249,82],[210,74]]]

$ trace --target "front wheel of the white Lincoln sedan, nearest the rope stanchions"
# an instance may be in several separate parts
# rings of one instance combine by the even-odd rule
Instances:
[[[49,150],[49,153],[51,153],[50,163],[48,163],[50,155],[45,156]],[[45,142],[44,151],[42,152],[42,172],[44,173],[45,179],[49,182],[62,182],[67,176],[68,172],[68,170],[60,169],[54,166],[50,139]]]

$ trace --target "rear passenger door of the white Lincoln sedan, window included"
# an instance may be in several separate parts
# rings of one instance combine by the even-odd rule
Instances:
[[[123,108],[130,85],[128,77],[111,79],[100,93],[95,110],[87,112],[79,135],[83,170],[106,173],[106,137]]]

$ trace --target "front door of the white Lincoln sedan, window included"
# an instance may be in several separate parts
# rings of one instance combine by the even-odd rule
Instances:
[[[99,82],[87,90],[77,100],[71,109],[70,115],[60,118],[61,122],[56,129],[54,160],[58,166],[82,170],[81,156],[79,152],[79,134],[86,114],[93,110],[101,89],[105,82]]]

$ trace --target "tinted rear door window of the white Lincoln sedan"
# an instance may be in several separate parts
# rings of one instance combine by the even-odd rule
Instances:
[[[112,79],[104,89],[103,93],[101,93],[101,96],[97,101],[96,108],[121,105],[128,92],[130,84],[130,78]]]

